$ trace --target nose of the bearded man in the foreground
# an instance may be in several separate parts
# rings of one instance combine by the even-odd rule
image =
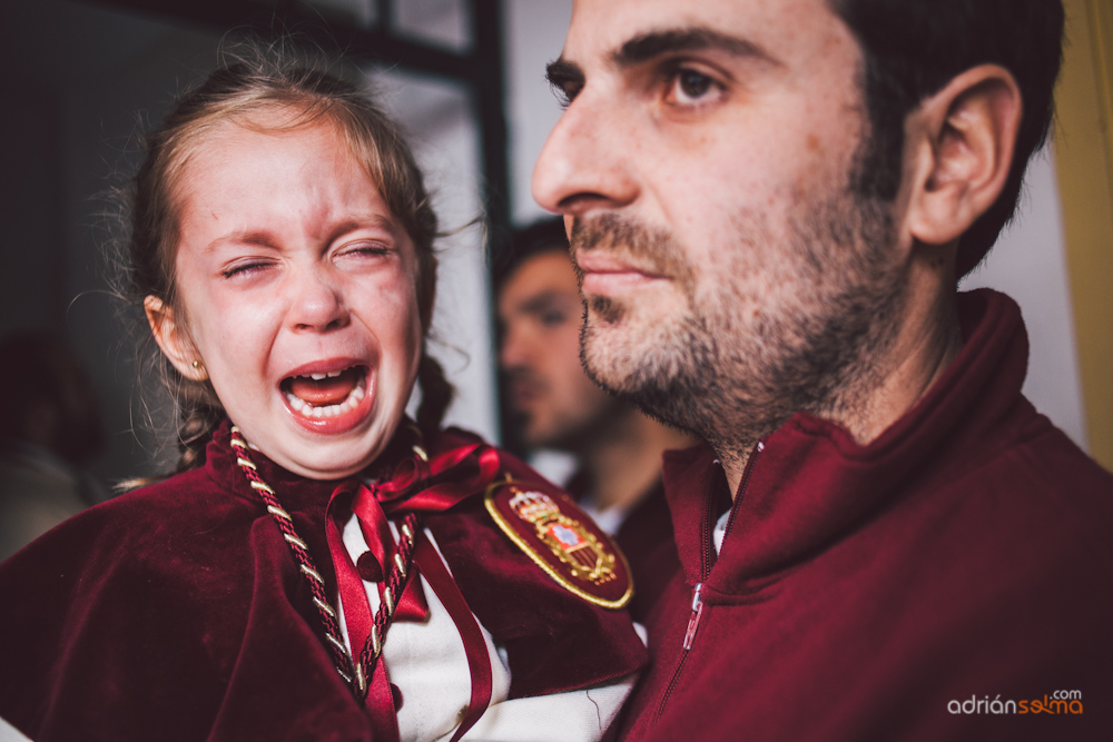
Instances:
[[[533,168],[533,198],[550,211],[581,216],[638,196],[630,132],[621,111],[584,88],[549,133]]]

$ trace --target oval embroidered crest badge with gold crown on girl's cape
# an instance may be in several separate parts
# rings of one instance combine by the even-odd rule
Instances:
[[[562,587],[608,609],[630,602],[626,557],[567,495],[500,482],[487,488],[484,504],[503,533]]]

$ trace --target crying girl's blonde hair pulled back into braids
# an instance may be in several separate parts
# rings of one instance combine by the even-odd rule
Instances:
[[[175,286],[179,180],[190,154],[208,132],[228,121],[256,129],[287,129],[325,119],[343,133],[352,156],[378,185],[383,200],[414,244],[418,313],[427,335],[436,289],[433,241],[437,219],[413,154],[395,122],[359,83],[348,80],[335,62],[307,62],[289,51],[292,46],[289,41],[248,42],[225,51],[225,63],[179,97],[161,123],[144,138],[144,159],[126,198],[126,295],[139,305],[154,296],[174,310],[179,324],[188,321]],[[259,113],[274,110],[285,115],[282,123],[263,127],[257,122]],[[178,410],[181,458],[176,471],[198,466],[224,408],[208,382],[185,378],[154,343],[148,343],[148,349],[157,356],[155,364]],[[452,387],[424,348],[417,379],[422,388],[417,423],[429,431],[440,425]]]

